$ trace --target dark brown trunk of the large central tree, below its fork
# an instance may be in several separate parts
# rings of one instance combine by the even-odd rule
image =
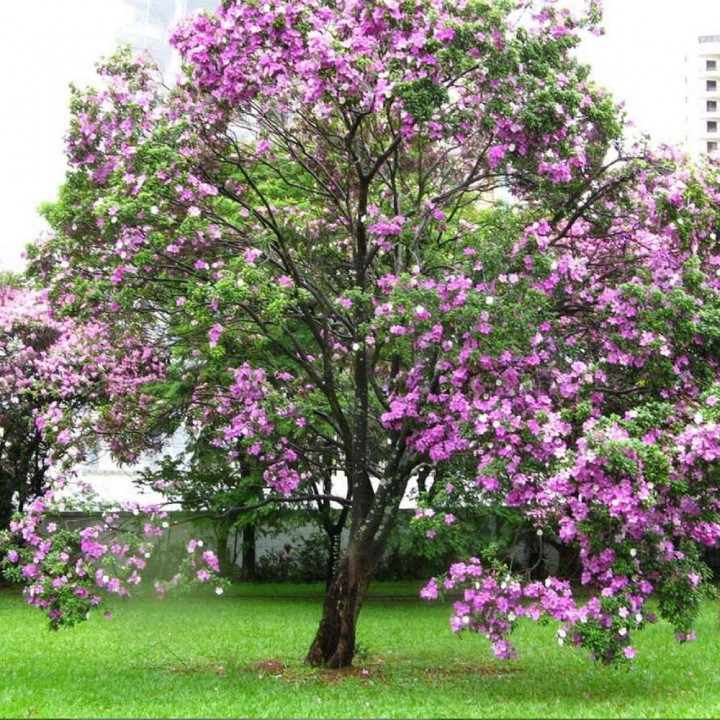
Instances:
[[[373,572],[372,561],[348,547],[325,594],[323,616],[305,662],[348,667],[355,655],[355,626]]]

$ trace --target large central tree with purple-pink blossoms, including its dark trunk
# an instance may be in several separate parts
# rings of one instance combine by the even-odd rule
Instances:
[[[175,31],[175,87],[121,53],[74,92],[33,270],[66,312],[166,349],[162,383],[106,414],[118,453],[181,411],[261,468],[263,502],[347,509],[311,663],[352,661],[413,479],[442,482],[423,521],[463,493],[580,548],[586,603],[477,560],[426,588],[463,587],[453,627],[499,655],[546,612],[629,657],[653,590],[689,633],[694,543],[720,530],[716,183],[667,154],[606,163],[621,123],[571,56],[592,14],[233,0]],[[483,209],[499,185],[522,203]]]

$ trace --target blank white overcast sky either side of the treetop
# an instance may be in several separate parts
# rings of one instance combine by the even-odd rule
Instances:
[[[68,84],[93,80],[95,60],[129,21],[121,0],[33,0],[3,5],[0,39],[0,269],[43,228],[37,206],[64,173]],[[720,0],[605,0],[606,34],[582,57],[657,142],[684,136],[684,56],[699,34],[720,34]]]

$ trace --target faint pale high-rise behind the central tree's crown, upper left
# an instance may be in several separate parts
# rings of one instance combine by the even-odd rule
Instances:
[[[180,69],[180,59],[168,35],[181,17],[194,10],[215,8],[220,0],[122,0],[133,10],[132,20],[118,29],[117,39],[136,50],[147,50],[165,77]]]

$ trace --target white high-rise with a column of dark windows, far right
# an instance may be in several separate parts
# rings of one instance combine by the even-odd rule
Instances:
[[[692,154],[720,150],[720,35],[700,35],[685,56],[685,141]]]

